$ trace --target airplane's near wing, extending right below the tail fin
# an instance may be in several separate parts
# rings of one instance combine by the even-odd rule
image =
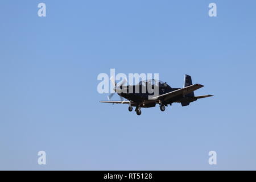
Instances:
[[[168,92],[168,93],[165,93],[165,94],[162,94],[160,96],[156,96],[156,97],[152,97],[152,99],[160,99],[160,98],[163,98],[164,101],[167,101],[167,100],[170,100],[170,98],[172,97],[175,97],[175,96],[179,96],[179,95],[187,95],[188,93],[191,93],[193,92],[194,90],[197,90],[197,89],[200,89],[202,88],[204,85],[201,85],[201,84],[193,84],[193,85],[189,85],[189,86],[186,86],[184,88],[181,88],[181,89],[177,89],[177,90],[174,90],[172,92]]]

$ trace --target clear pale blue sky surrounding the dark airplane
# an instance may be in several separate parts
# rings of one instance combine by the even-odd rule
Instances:
[[[254,0],[2,0],[0,169],[255,170],[255,9]],[[188,74],[205,85],[196,95],[214,97],[138,116],[99,102],[97,76],[110,68],[159,73],[174,88]]]

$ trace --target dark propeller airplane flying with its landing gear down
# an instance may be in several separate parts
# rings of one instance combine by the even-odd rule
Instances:
[[[104,103],[112,104],[129,104],[128,110],[133,111],[133,106],[137,115],[141,115],[141,107],[155,107],[159,104],[160,110],[166,110],[166,106],[172,105],[174,102],[178,102],[181,106],[188,106],[191,102],[196,101],[199,98],[212,97],[213,95],[195,96],[194,91],[202,88],[204,85],[192,84],[192,78],[189,75],[184,77],[183,88],[171,88],[166,82],[150,79],[146,81],[140,81],[137,85],[123,86],[126,80],[122,81],[120,86],[114,81],[114,78],[110,78],[110,81],[114,85],[114,92],[118,93],[121,97],[121,101],[110,101],[110,98],[114,93],[108,96],[109,101],[100,101]],[[147,88],[158,89],[158,95],[154,96],[154,92],[149,92]],[[136,88],[137,87],[137,88]],[[138,92],[129,93],[129,89],[137,89]],[[146,90],[146,92],[143,92]],[[123,98],[127,100],[124,101]]]

